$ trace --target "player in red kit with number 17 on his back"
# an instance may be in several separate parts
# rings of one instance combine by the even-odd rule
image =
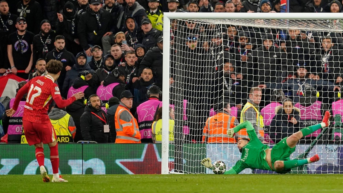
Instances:
[[[20,99],[27,93],[24,106],[23,128],[27,143],[36,147],[36,158],[44,182],[50,182],[50,178],[44,167],[43,144],[48,144],[50,148],[50,161],[54,175],[51,181],[68,182],[58,174],[59,158],[57,137],[47,113],[52,101],[51,99],[56,102],[58,107],[64,108],[84,96],[82,92],[79,92],[67,100],[62,99],[60,90],[55,83],[61,73],[62,67],[63,65],[60,61],[50,60],[46,65],[48,74],[45,76],[37,76],[25,84],[18,91],[13,107],[6,111],[7,116],[12,116],[18,108]]]

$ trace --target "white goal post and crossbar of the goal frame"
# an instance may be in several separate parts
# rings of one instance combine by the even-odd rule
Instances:
[[[161,173],[168,174],[170,169],[170,155],[175,156],[174,165],[179,164],[174,169],[177,172],[183,173],[183,153],[182,147],[184,145],[182,132],[174,133],[175,143],[174,148],[169,149],[169,120],[165,119],[169,117],[169,92],[170,89],[170,68],[171,68],[171,46],[170,46],[170,37],[171,37],[171,20],[189,20],[196,23],[207,23],[207,24],[233,24],[233,25],[242,25],[242,26],[251,26],[251,27],[266,27],[266,28],[279,28],[282,29],[294,29],[294,30],[313,30],[313,31],[330,31],[330,32],[343,32],[343,24],[336,26],[336,28],[330,28],[330,22],[321,23],[322,25],[316,25],[312,21],[315,20],[343,20],[343,13],[164,13],[164,27],[163,27],[163,95],[162,95],[162,164],[161,164]],[[254,20],[265,20],[263,24],[252,22]],[[280,23],[273,22],[273,20],[283,21],[283,26],[280,26]],[[306,21],[311,22],[306,22]],[[231,22],[232,21],[232,22]],[[301,21],[299,23],[298,21]],[[342,22],[342,21],[341,21]],[[180,70],[180,69],[179,69]],[[184,79],[180,79],[183,80]],[[179,80],[179,81],[180,81]],[[176,84],[180,84],[176,83]],[[176,86],[177,89],[177,86]],[[182,89],[181,89],[182,90]],[[183,91],[179,91],[180,94]],[[182,99],[181,99],[182,100]],[[175,104],[175,130],[182,131],[182,101],[179,104]],[[239,121],[239,120],[238,120]],[[203,126],[204,123],[201,123]],[[180,141],[177,141],[176,138],[179,138]],[[175,153],[170,151],[175,151],[178,149],[181,152]],[[177,158],[176,158],[177,157]],[[178,160],[177,160],[178,159]],[[194,161],[194,160],[186,160]],[[213,160],[215,161],[215,160]],[[228,167],[229,168],[229,167]]]

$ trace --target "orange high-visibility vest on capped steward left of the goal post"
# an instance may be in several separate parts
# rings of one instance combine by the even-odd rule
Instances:
[[[129,122],[125,120],[131,120]],[[137,120],[131,112],[124,106],[119,105],[114,116],[117,138],[116,143],[141,143]]]

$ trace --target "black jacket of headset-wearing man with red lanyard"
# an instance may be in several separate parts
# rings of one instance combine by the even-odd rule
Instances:
[[[104,133],[105,122],[96,117],[93,113],[107,122],[106,112],[102,109],[95,110],[92,105],[86,105],[85,112],[80,118],[81,134],[85,141],[96,141],[98,143],[110,143],[111,135]]]

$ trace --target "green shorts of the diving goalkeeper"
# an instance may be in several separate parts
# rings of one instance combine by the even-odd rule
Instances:
[[[295,147],[291,148],[287,145],[286,139],[287,137],[283,138],[279,143],[275,144],[272,148],[270,157],[271,157],[273,169],[274,169],[275,161],[291,160],[289,156],[295,151]],[[291,169],[289,169],[288,171],[278,172],[278,173],[287,173],[290,170]]]

